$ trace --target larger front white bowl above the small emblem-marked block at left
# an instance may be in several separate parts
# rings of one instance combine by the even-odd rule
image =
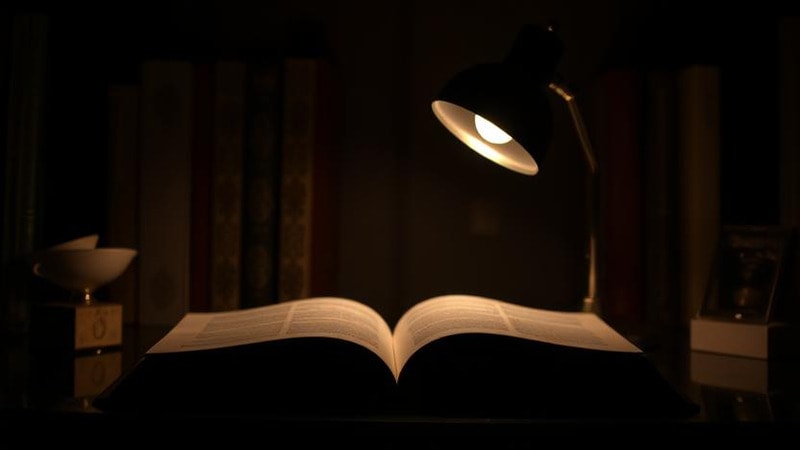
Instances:
[[[116,247],[48,250],[39,255],[33,273],[65,289],[90,294],[122,275],[136,253]]]

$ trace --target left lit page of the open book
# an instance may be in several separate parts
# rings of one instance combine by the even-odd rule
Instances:
[[[209,350],[299,337],[331,337],[366,347],[395,372],[389,325],[353,300],[320,297],[245,310],[188,313],[147,353]]]

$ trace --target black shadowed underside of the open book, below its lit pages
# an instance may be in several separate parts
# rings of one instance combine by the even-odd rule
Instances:
[[[94,404],[257,417],[662,420],[697,412],[644,354],[484,334],[435,341],[397,382],[365,347],[329,338],[149,354]]]

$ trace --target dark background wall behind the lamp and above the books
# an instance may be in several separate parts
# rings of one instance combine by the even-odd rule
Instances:
[[[584,106],[611,67],[718,64],[721,221],[781,220],[778,23],[794,11],[652,0],[108,3],[3,7],[3,23],[15,11],[51,16],[43,247],[97,232],[103,244],[106,89],[137,81],[143,59],[323,53],[345,101],[336,294],[390,324],[444,293],[575,309],[585,292],[585,167],[566,108],[555,110],[554,151],[535,177],[468,151],[430,110],[449,77],[501,59],[526,23],[558,25],[558,71]]]

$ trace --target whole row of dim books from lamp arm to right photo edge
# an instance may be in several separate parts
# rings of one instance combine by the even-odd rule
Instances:
[[[726,226],[797,229],[797,22],[778,22],[777,51],[759,59],[771,67],[631,65],[597,77],[588,128],[602,164],[601,299],[613,325],[686,331]]]

